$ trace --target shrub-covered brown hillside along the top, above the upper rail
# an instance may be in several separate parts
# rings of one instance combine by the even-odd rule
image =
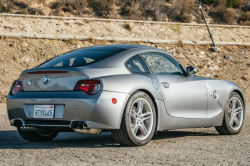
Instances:
[[[249,0],[202,0],[211,24],[250,24]],[[0,0],[0,13],[203,23],[197,0]]]

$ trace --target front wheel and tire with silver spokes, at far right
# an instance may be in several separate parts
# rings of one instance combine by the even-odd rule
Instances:
[[[233,104],[234,101],[235,104]],[[238,122],[235,118],[238,119]],[[241,131],[243,127],[244,118],[245,107],[242,98],[238,93],[232,92],[229,96],[226,108],[224,110],[222,126],[216,126],[215,129],[222,135],[236,135]]]

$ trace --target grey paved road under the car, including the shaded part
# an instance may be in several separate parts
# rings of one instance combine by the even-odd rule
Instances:
[[[60,133],[30,143],[10,127],[0,105],[0,165],[250,165],[250,108],[242,132],[221,136],[213,128],[159,132],[148,145],[122,147],[111,134]]]

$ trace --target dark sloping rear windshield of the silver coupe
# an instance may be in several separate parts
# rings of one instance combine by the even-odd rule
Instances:
[[[115,47],[84,48],[52,58],[42,63],[37,68],[86,66],[111,57],[125,50],[126,49]]]

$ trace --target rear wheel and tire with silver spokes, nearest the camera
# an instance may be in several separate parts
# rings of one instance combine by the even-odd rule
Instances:
[[[121,145],[142,146],[152,139],[155,129],[154,103],[146,93],[137,91],[126,104],[120,129],[112,130],[111,133]]]

